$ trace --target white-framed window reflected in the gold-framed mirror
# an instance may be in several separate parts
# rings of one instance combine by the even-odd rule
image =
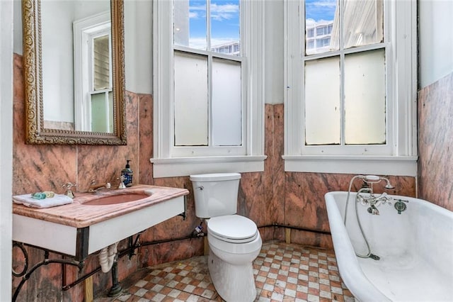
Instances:
[[[76,130],[113,133],[110,13],[74,22]]]

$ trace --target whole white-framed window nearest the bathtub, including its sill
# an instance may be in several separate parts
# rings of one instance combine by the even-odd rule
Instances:
[[[415,175],[415,5],[316,4],[285,1],[285,169]]]

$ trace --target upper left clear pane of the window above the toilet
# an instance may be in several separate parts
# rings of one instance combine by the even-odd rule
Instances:
[[[175,0],[173,43],[207,50],[206,0]]]

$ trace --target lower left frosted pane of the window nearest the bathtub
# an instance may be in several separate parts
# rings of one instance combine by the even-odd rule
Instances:
[[[305,144],[340,143],[340,59],[305,62]]]

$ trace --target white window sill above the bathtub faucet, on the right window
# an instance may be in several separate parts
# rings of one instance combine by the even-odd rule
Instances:
[[[416,156],[284,155],[285,172],[417,176]]]

